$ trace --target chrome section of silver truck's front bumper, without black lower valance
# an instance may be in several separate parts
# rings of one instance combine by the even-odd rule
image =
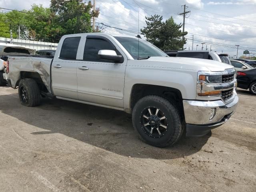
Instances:
[[[207,125],[221,122],[225,116],[232,114],[236,110],[238,96],[236,92],[234,94],[234,99],[228,104],[225,104],[222,100],[183,100],[186,124]],[[215,112],[214,116],[210,119],[211,109],[214,109]]]

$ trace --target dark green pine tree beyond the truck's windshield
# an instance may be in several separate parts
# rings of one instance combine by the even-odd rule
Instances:
[[[182,24],[176,24],[171,17],[162,22],[162,16],[154,15],[146,17],[147,26],[141,30],[149,42],[162,50],[179,50],[183,48],[186,39],[182,40],[182,35],[188,32],[182,32]]]

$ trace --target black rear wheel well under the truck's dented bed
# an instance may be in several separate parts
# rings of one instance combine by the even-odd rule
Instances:
[[[36,83],[38,84],[39,90],[42,92],[48,92],[46,86],[44,85],[44,82],[40,76],[39,73],[37,72],[28,72],[28,71],[21,71],[20,72],[20,80],[22,79],[34,79]],[[19,84],[20,80],[17,82],[17,85]]]

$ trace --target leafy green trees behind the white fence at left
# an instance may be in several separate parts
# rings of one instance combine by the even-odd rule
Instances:
[[[17,37],[36,41],[59,42],[66,34],[92,32],[91,18],[98,17],[99,9],[92,11],[92,4],[83,0],[51,0],[50,8],[33,4],[30,10],[0,14],[0,36]]]

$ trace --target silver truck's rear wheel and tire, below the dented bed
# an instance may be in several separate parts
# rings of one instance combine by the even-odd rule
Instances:
[[[22,79],[19,83],[20,103],[24,106],[38,106],[41,100],[40,90],[34,79]]]

